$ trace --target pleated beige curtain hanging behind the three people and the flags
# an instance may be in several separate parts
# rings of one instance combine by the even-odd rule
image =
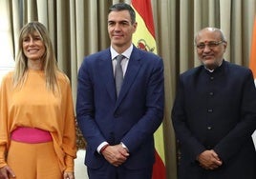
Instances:
[[[50,30],[61,70],[72,82],[76,99],[77,70],[85,55],[109,46],[109,6],[130,0],[1,0],[5,1],[11,28],[11,47],[16,51],[18,30],[38,20]],[[184,70],[198,66],[194,34],[204,27],[224,30],[227,61],[248,66],[256,0],[151,0],[158,51],[164,60],[165,117],[163,120],[168,179],[177,178],[177,148],[171,124],[176,82]],[[1,7],[3,8],[3,7]],[[0,9],[1,9],[0,8]]]

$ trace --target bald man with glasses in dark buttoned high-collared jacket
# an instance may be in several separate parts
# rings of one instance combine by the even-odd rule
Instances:
[[[251,70],[224,61],[222,30],[195,37],[202,66],[181,74],[172,121],[179,179],[255,179],[256,89]]]

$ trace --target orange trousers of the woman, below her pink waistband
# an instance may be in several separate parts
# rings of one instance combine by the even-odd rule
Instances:
[[[63,179],[53,142],[27,144],[11,141],[7,163],[15,179]]]

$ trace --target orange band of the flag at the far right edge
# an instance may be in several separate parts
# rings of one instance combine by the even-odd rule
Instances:
[[[253,72],[254,82],[256,85],[256,81],[255,81],[256,80],[256,16],[254,17],[254,27],[252,32],[249,68]]]

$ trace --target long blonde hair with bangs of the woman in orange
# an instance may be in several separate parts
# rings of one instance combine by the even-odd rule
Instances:
[[[45,46],[45,53],[41,57],[43,62],[43,70],[46,77],[46,88],[54,91],[57,86],[56,73],[58,71],[56,65],[56,58],[53,51],[53,44],[46,30],[45,26],[39,22],[33,21],[25,25],[20,30],[19,41],[18,41],[18,52],[15,58],[15,68],[13,73],[13,85],[17,87],[23,85],[26,80],[26,71],[28,70],[28,58],[25,56],[23,51],[23,40],[28,37],[28,35],[33,35],[37,32],[41,37],[42,42]]]

